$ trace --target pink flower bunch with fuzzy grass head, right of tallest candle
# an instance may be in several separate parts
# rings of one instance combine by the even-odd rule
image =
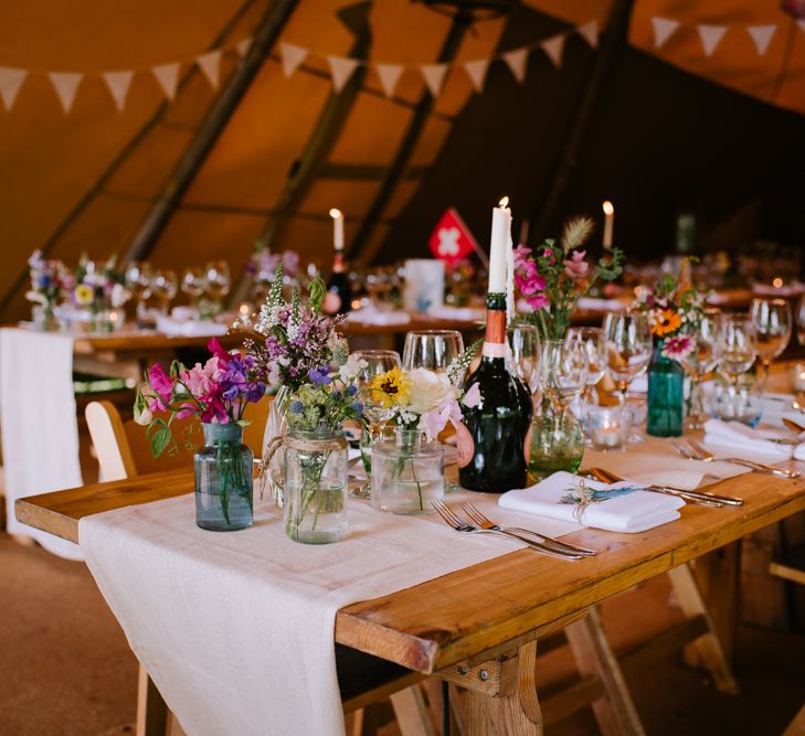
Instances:
[[[576,217],[564,226],[557,243],[549,238],[536,250],[515,248],[515,282],[532,311],[522,319],[536,324],[542,338],[564,337],[576,302],[599,281],[612,281],[623,271],[623,250],[612,248],[593,265],[581,246],[590,237],[593,222]]]

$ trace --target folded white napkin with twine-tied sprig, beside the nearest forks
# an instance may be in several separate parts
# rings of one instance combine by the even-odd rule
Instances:
[[[586,505],[580,503],[582,483],[585,495],[593,495]],[[624,492],[617,493],[618,490]],[[530,488],[504,493],[498,504],[501,509],[578,522],[610,532],[634,533],[676,521],[685,501],[639,490],[629,482],[607,484],[560,471]]]

